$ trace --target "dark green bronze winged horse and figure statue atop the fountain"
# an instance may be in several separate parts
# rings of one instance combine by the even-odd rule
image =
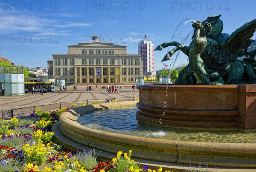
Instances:
[[[195,84],[196,77],[193,73],[205,85],[256,84],[256,61],[253,59],[256,52],[247,52],[253,42],[250,38],[256,31],[256,19],[245,23],[229,35],[221,33],[223,22],[220,17],[221,15],[213,15],[202,23],[192,21],[195,31],[189,46],[178,42],[157,46],[155,51],[176,46],[164,56],[162,62],[169,60],[178,50],[189,57],[189,64],[180,72],[175,84]],[[237,59],[241,56],[247,56],[243,60],[246,65]],[[193,80],[193,83],[188,82],[189,80]]]

